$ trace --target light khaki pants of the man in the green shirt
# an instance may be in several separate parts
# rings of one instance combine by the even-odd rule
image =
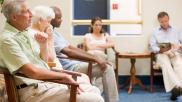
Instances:
[[[104,102],[98,88],[85,80],[79,82],[84,92],[77,94],[77,102]],[[37,87],[28,86],[18,92],[21,102],[69,102],[70,99],[70,90],[66,85],[50,82],[38,83]]]

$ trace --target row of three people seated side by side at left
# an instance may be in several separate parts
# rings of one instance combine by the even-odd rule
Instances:
[[[96,58],[92,54],[71,46],[58,32],[54,31],[54,28],[59,27],[62,21],[59,8],[38,6],[31,12],[26,0],[12,0],[3,4],[2,12],[7,22],[0,39],[1,66],[6,67],[14,75],[21,102],[69,101],[69,87],[38,81],[44,79],[78,83],[77,102],[119,101],[113,66],[104,59]],[[102,77],[105,99],[101,96],[100,90],[93,86],[85,75],[88,63],[58,59],[56,54],[95,62],[92,67],[92,76]],[[85,74],[81,74],[75,81],[67,73],[50,70],[48,62],[56,63],[54,67],[59,70]],[[29,78],[16,76],[19,73]]]

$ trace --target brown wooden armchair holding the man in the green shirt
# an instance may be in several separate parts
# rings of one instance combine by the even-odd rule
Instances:
[[[72,77],[76,80],[77,76],[81,76],[79,73],[76,72],[69,72],[69,71],[62,71],[62,70],[55,70],[52,69],[52,71],[57,71],[57,72],[63,72],[63,73],[68,73],[70,75],[72,75]],[[16,89],[16,84],[14,81],[14,77],[13,75],[11,75],[8,71],[7,68],[2,68],[0,67],[0,74],[4,75],[5,78],[5,85],[6,85],[6,90],[7,90],[7,95],[8,95],[8,101],[9,102],[19,102],[19,96],[18,96],[18,92]],[[17,76],[23,76],[26,77],[22,74],[16,74]],[[65,84],[65,85],[70,85],[71,86],[71,90],[70,90],[70,101],[69,102],[76,102],[76,92],[77,92],[77,87],[79,86],[76,83],[68,83],[68,82],[60,82],[57,80],[50,80],[50,79],[45,79],[43,81],[48,81],[48,82],[54,82],[54,83],[59,83],[59,84]]]

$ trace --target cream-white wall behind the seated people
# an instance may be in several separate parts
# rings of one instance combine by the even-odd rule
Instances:
[[[82,41],[82,37],[72,36],[72,0],[28,0],[30,7],[36,5],[56,5],[62,9],[63,23],[60,31],[71,44],[76,45]],[[117,49],[121,52],[146,52],[148,51],[148,40],[151,35],[151,30],[158,25],[156,16],[160,11],[167,11],[170,15],[171,25],[175,25],[182,29],[182,0],[142,0],[142,17],[143,31],[139,36],[120,36],[114,37]],[[5,22],[4,17],[0,14],[0,31],[3,29]],[[138,75],[149,75],[149,59],[137,60],[136,71]],[[129,74],[129,60],[120,60],[119,73],[120,75]]]

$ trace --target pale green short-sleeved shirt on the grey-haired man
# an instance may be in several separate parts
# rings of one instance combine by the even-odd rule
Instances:
[[[49,70],[48,65],[40,58],[38,43],[28,31],[20,32],[6,23],[4,31],[0,34],[0,66],[8,68],[11,74],[15,74],[19,68],[28,63]],[[39,82],[17,76],[15,81],[17,85]]]

